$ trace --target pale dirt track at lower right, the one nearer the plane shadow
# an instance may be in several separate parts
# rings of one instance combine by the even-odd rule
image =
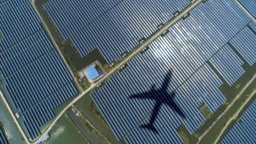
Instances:
[[[236,96],[236,98],[233,100],[233,102],[230,103],[230,105],[227,107],[227,109],[214,121],[214,123],[209,127],[209,129],[207,129],[207,131],[201,135],[201,137],[198,138],[198,142],[197,143],[200,143],[202,138],[207,134],[207,132],[209,132],[212,127],[219,121],[219,119],[225,114],[228,112],[228,110],[234,105],[235,101],[237,99],[239,99],[241,96],[243,96],[242,94],[245,92],[245,90],[247,89],[248,86],[250,86],[252,84],[252,82],[254,81],[254,79],[256,78],[256,75],[254,75],[252,77],[252,79],[244,86],[243,90],[241,92],[239,92],[239,94]],[[251,95],[250,95],[251,97]],[[241,108],[239,109],[241,110]]]

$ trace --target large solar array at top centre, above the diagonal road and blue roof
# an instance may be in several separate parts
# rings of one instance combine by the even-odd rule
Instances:
[[[86,25],[81,29],[81,27],[76,26],[75,20],[70,22],[70,28],[61,26],[65,25],[63,21],[65,21],[64,19],[66,17],[70,19],[67,22],[71,21],[71,17],[78,20],[86,19],[87,16],[80,17],[76,15],[76,11],[83,13],[87,6],[82,6],[83,4],[81,4],[79,8],[77,6],[78,9],[76,9],[76,11],[72,11],[72,8],[69,9],[69,7],[75,7],[76,4],[68,4],[67,1],[56,1],[57,0],[51,0],[49,3],[45,4],[46,11],[50,14],[50,17],[56,23],[60,31],[80,29],[77,34],[71,37],[71,41],[74,43],[79,54],[84,57],[94,48],[98,48],[108,62],[120,59],[123,52],[132,50],[133,47],[139,44],[139,40],[142,37],[148,37],[153,34],[161,22],[170,20],[174,12],[182,10],[190,3],[189,0],[182,2],[178,0],[123,0],[119,3],[116,1],[111,3],[110,1],[106,1],[105,3],[109,3],[109,6],[106,6],[106,9],[102,9],[102,12],[98,12],[101,10],[99,8],[100,5],[98,5],[96,6],[96,11],[93,11],[93,13],[87,12],[85,14],[89,15],[89,18],[91,18],[91,15],[97,15],[95,13],[99,13],[98,15],[103,13],[100,17],[98,17],[98,15],[95,16],[97,19],[94,19],[94,21],[90,19],[89,21],[92,21],[90,25]],[[113,6],[113,3],[115,3],[116,6],[106,12],[109,7]],[[57,11],[57,13],[54,11]],[[64,12],[59,14],[59,11]],[[84,24],[86,23],[89,22],[85,22]]]

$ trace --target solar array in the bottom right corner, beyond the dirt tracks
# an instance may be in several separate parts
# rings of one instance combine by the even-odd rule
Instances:
[[[241,116],[220,143],[256,143],[256,101]]]

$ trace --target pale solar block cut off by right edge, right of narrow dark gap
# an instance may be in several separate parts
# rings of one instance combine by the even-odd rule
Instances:
[[[249,28],[243,29],[232,39],[231,44],[250,66],[256,62],[256,35]]]

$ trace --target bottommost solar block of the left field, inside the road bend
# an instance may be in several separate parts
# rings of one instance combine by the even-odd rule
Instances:
[[[25,127],[29,137],[37,137],[40,134],[39,127],[49,122],[55,115],[52,109],[57,108],[65,101],[69,100],[72,95],[76,95],[77,90],[72,83],[63,86],[62,89],[53,93],[44,101],[39,102],[35,107],[28,109],[23,115],[25,118]]]

